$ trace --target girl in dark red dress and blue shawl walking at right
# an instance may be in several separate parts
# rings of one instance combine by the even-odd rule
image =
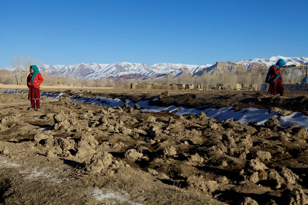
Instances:
[[[281,69],[282,66],[286,64],[286,61],[283,59],[279,59],[276,65],[272,65],[270,67],[270,79],[268,83],[270,83],[269,90],[267,94],[276,95],[277,93],[280,96],[283,96],[283,92],[285,91],[284,87],[282,86],[282,77],[281,77]]]

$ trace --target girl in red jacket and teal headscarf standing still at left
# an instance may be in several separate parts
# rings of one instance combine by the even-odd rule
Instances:
[[[34,110],[35,104],[36,104],[36,110],[40,110],[40,92],[39,88],[42,83],[43,83],[43,77],[41,73],[39,73],[39,68],[36,65],[31,65],[30,66],[30,74],[27,77],[27,85],[29,88],[29,96],[28,100],[30,100],[31,103],[31,108],[29,110]],[[36,101],[34,103],[34,100]]]

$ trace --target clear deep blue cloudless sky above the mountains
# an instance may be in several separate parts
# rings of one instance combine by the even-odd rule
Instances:
[[[0,68],[308,56],[308,1],[0,1]]]

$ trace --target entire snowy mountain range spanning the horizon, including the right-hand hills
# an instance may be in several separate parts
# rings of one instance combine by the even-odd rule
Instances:
[[[39,69],[46,72],[50,76],[59,76],[74,78],[76,80],[92,80],[98,78],[121,77],[125,79],[140,78],[143,80],[166,76],[180,77],[185,75],[202,74],[204,72],[217,73],[235,71],[238,69],[253,69],[254,67],[269,67],[275,64],[280,58],[285,59],[286,65],[308,64],[308,57],[283,57],[274,56],[269,58],[253,58],[247,61],[240,60],[236,62],[224,62],[225,65],[217,62],[214,65],[187,65],[187,64],[173,64],[173,63],[156,63],[154,65],[147,65],[144,63],[112,63],[112,64],[98,64],[98,63],[78,63],[75,65],[46,65],[39,66]],[[219,69],[217,67],[224,69]],[[238,65],[238,66],[237,66]],[[235,69],[236,68],[236,69]],[[14,71],[12,66],[2,68],[2,70]]]

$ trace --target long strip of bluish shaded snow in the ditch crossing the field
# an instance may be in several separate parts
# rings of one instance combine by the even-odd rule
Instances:
[[[112,108],[128,104],[134,106],[135,103],[132,101],[122,101],[118,98],[106,98],[106,97],[81,97],[76,98],[75,96],[70,97],[72,101],[85,102],[103,106],[110,106]],[[154,98],[156,100],[157,98]],[[157,99],[158,100],[158,99]],[[194,114],[197,115],[200,112],[204,112],[209,118],[215,120],[234,120],[234,122],[245,124],[255,122],[256,125],[263,125],[270,117],[278,118],[278,112],[268,113],[268,109],[257,109],[257,108],[243,108],[240,111],[234,111],[232,106],[226,108],[207,108],[205,110],[199,110],[197,108],[183,108],[176,107],[174,105],[169,107],[160,107],[149,105],[149,101],[138,101],[137,104],[143,108],[142,112],[161,112],[167,110],[168,112],[175,112],[176,115]],[[279,122],[283,127],[288,127],[291,124],[297,124],[308,129],[308,117],[301,112],[293,112],[288,116],[279,117]]]

